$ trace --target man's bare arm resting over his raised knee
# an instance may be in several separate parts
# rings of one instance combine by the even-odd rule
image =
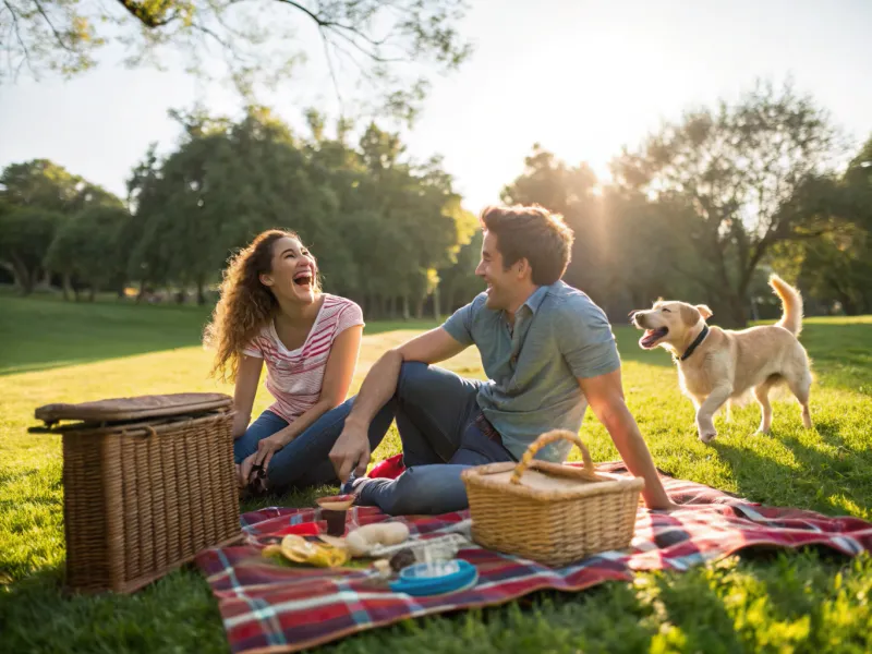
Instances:
[[[396,392],[402,363],[438,363],[459,354],[467,347],[455,340],[444,327],[437,327],[388,350],[375,362],[361,385],[339,439],[330,450],[330,461],[339,481],[344,483],[352,470],[359,475],[366,472],[372,453],[367,435],[370,423]]]

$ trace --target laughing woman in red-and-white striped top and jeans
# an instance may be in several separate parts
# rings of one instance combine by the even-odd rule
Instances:
[[[216,349],[213,374],[235,382],[240,486],[336,483],[327,455],[350,411],[342,401],[363,325],[354,302],[320,291],[315,257],[293,232],[263,232],[230,261],[206,341]],[[264,363],[276,401],[249,425]],[[391,420],[386,407],[370,429],[373,448]]]

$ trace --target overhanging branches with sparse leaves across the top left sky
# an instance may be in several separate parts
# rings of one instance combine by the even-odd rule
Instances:
[[[470,56],[458,32],[465,11],[464,0],[3,0],[0,82],[22,71],[71,77],[116,41],[131,52],[129,65],[181,56],[187,72],[208,77],[220,68],[249,95],[302,63],[308,29],[337,94],[365,85],[383,107],[411,118],[429,74]]]

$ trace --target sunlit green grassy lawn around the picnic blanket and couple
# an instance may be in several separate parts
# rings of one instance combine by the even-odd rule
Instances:
[[[230,391],[206,377],[193,307],[64,304],[0,295],[0,651],[225,652],[217,605],[195,569],[133,596],[65,598],[60,439],[25,433],[51,401]],[[428,324],[371,324],[355,388],[380,352]],[[628,402],[656,463],[670,474],[777,506],[872,519],[872,317],[810,319],[815,429],[774,402],[772,434],[752,436],[755,404],[695,438],[665,352],[642,352],[617,327]],[[446,364],[482,376],[469,350]],[[255,410],[269,397],[262,390]],[[592,416],[594,460],[617,458]],[[393,431],[376,458],[399,449]],[[277,498],[299,504],[311,497]],[[411,620],[325,647],[335,652],[868,652],[872,558],[820,552],[755,553],[685,574],[642,574],[580,594],[543,593],[507,607]]]

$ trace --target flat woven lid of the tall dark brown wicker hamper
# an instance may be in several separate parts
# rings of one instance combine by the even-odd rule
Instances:
[[[140,396],[135,398],[114,398],[81,402],[78,404],[46,404],[39,407],[34,415],[47,424],[62,420],[85,422],[118,422],[187,415],[202,411],[229,409],[233,398],[221,392],[177,392],[170,395]]]

